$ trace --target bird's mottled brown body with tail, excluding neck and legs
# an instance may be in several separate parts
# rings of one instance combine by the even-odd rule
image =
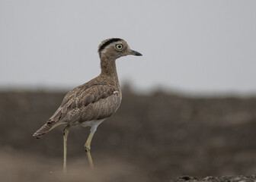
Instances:
[[[53,116],[37,130],[34,137],[62,124],[72,126],[113,115],[120,105],[122,94],[120,87],[114,86],[108,79],[100,75],[69,91]]]

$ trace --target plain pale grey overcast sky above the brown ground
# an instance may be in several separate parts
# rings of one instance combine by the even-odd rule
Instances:
[[[72,89],[125,39],[121,84],[148,92],[256,93],[256,1],[0,1],[0,89]]]

